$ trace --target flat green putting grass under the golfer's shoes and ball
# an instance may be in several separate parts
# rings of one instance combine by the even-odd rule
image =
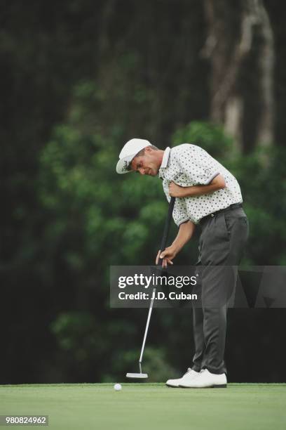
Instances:
[[[0,386],[0,415],[49,415],[48,428],[59,430],[286,428],[286,384],[229,384],[227,389],[122,386],[121,391],[114,391],[113,384]]]

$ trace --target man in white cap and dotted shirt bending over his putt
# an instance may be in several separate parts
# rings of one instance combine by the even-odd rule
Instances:
[[[184,143],[159,150],[149,141],[133,138],[123,146],[116,166],[118,174],[130,171],[159,176],[170,201],[176,197],[173,219],[179,231],[170,247],[156,257],[163,266],[173,263],[178,252],[200,226],[196,289],[200,302],[193,304],[193,365],[173,387],[226,387],[224,348],[227,301],[247,241],[248,221],[236,178],[203,148]]]

